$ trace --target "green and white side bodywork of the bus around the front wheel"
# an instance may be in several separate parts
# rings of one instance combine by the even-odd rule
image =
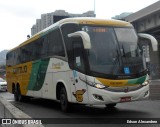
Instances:
[[[58,58],[37,60],[32,64],[27,96],[56,100],[56,87],[62,83],[71,100],[71,78],[68,62]],[[73,84],[73,83],[72,83]],[[57,91],[59,92],[59,91]]]

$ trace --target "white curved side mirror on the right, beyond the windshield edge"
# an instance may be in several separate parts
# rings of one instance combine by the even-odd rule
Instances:
[[[148,39],[151,41],[153,51],[158,51],[158,42],[157,40],[150,34],[138,33],[140,38]]]

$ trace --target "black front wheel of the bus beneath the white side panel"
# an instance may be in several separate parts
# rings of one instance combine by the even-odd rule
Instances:
[[[61,104],[62,111],[64,111],[64,112],[69,111],[69,102],[68,102],[68,98],[67,98],[67,92],[64,87],[62,87],[60,90],[60,104]]]

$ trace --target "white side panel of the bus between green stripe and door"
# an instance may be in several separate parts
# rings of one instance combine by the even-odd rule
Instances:
[[[70,98],[70,84],[71,79],[69,78],[71,70],[69,69],[68,62],[58,58],[51,58],[48,64],[47,74],[42,87],[42,97],[47,99],[56,100],[56,87],[58,83],[65,86],[68,99]]]

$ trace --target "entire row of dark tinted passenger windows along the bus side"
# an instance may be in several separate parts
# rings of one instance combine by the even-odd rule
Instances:
[[[65,56],[59,29],[8,53],[7,65],[16,65],[53,55]]]

